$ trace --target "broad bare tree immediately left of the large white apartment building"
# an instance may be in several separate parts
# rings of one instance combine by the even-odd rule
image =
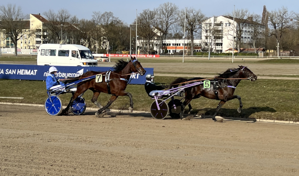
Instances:
[[[185,22],[185,9],[181,10],[178,15],[181,26],[184,28]],[[200,11],[194,8],[186,9],[186,31],[191,36],[191,55],[193,56],[194,48],[194,33],[199,33],[202,29],[202,22],[206,20],[206,16]]]

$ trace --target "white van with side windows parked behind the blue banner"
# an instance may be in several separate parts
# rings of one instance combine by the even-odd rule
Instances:
[[[42,44],[38,49],[37,65],[96,67],[97,60],[82,45]]]

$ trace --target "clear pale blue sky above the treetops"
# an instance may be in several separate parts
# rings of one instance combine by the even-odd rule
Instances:
[[[215,0],[151,0],[151,1],[136,1],[136,0],[51,0],[51,1],[24,1],[24,0],[2,0],[0,6],[7,6],[8,4],[16,4],[22,8],[24,14],[41,14],[53,10],[58,12],[60,9],[66,9],[72,16],[77,16],[80,19],[90,20],[93,12],[112,12],[115,17],[123,21],[125,24],[131,24],[136,18],[137,14],[145,9],[154,10],[160,5],[171,2],[179,7],[180,10],[185,8],[200,9],[207,17],[225,15],[232,13],[235,9],[248,9],[250,13],[262,15],[263,6],[266,6],[267,11],[273,11],[286,7],[289,11],[299,13],[299,1],[296,0],[250,0],[250,1],[215,1]],[[238,2],[238,3],[237,3]]]

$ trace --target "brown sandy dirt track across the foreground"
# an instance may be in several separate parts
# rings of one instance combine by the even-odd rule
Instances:
[[[0,175],[299,175],[299,125],[139,115],[0,105]]]

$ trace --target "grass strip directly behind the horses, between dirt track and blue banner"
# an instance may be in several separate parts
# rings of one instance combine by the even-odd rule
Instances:
[[[169,84],[177,77],[155,76],[156,84]],[[240,95],[243,103],[241,113],[237,112],[239,101],[237,99],[226,102],[219,111],[220,116],[243,117],[257,119],[274,119],[299,121],[299,87],[298,81],[257,79],[255,82],[242,80],[235,95]],[[47,98],[46,83],[43,81],[4,80],[0,79],[0,97],[24,97],[24,99],[3,99],[0,102],[44,104]],[[134,110],[150,111],[154,101],[147,96],[143,85],[128,85],[127,92],[133,96]],[[63,105],[67,105],[71,94],[60,95]],[[92,91],[85,92],[83,97],[88,107],[96,107],[91,103]],[[98,101],[105,105],[110,95],[101,93]],[[191,101],[194,111],[192,113],[212,115],[219,100],[204,97]],[[111,109],[128,109],[129,98],[118,97],[110,106]],[[188,111],[186,107],[185,111]],[[45,112],[46,113],[46,112]]]

